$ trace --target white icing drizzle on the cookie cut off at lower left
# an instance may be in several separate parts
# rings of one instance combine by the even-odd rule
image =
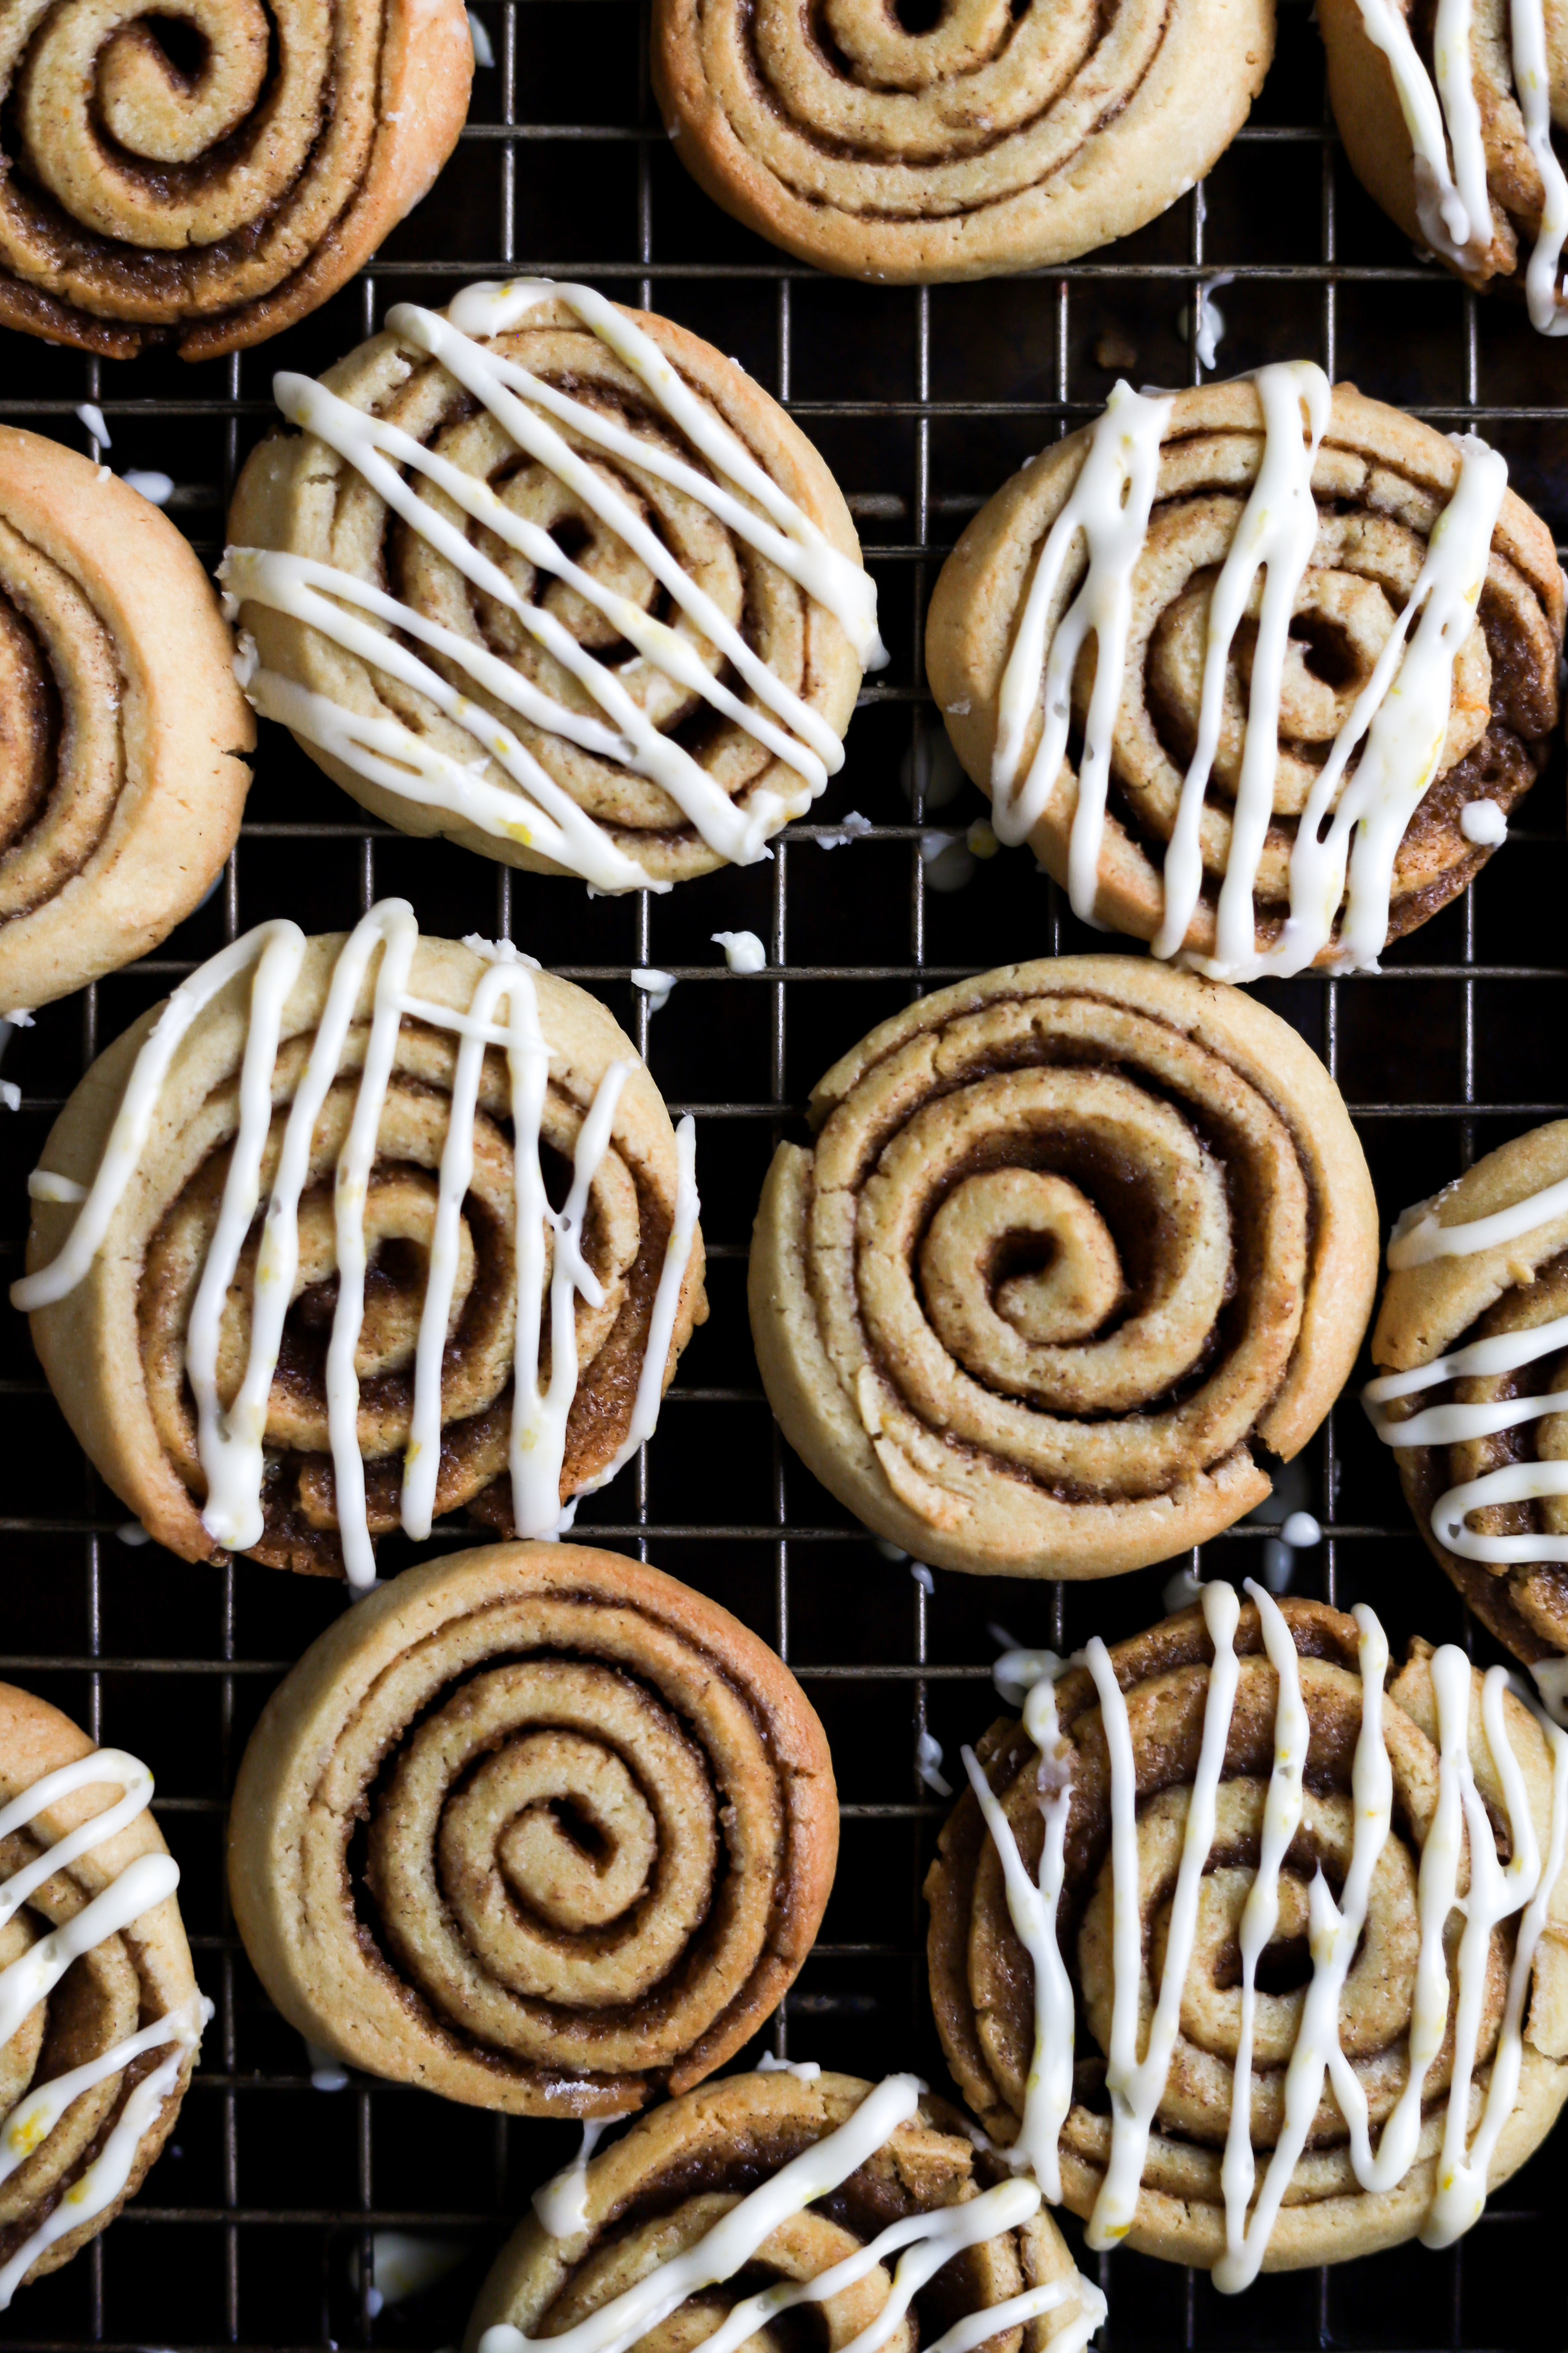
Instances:
[[[87,1821],[78,1824],[75,1831],[56,1838],[31,1864],[24,1864],[21,1871],[0,1882],[0,1925],[12,1920],[47,1878],[66,1871],[82,1854],[89,1854],[146,1812],[153,1798],[153,1774],[139,1758],[127,1755],[122,1748],[94,1748],[85,1758],[75,1758],[75,1762],[42,1774],[19,1798],[0,1807],[0,1838],[9,1838],[12,1831],[28,1828],[73,1791],[113,1788],[115,1784],[122,1795],[113,1805],[101,1807]],[[106,1937],[118,1937],[132,1927],[155,1904],[172,1897],[176,1887],[179,1864],[172,1854],[139,1854],[71,1920],[49,1929],[9,1967],[0,1969],[0,2045],[12,2040],[21,2021],[47,1998],[73,1960],[92,1953]],[[96,2059],[87,2059],[66,2075],[54,2075],[49,2082],[38,2085],[12,2108],[0,2127],[0,2181],[9,2181],[16,2167],[47,2141],[66,2108],[82,2092],[108,2082],[110,2075],[118,2075],[146,2052],[174,2045],[162,2066],[132,2085],[92,2165],[78,2174],[45,2221],[0,2266],[0,2313],[9,2308],[16,2287],[40,2254],[66,2238],[66,2233],[80,2231],[82,2224],[120,2198],[132,2177],[136,2151],[148,2127],[158,2120],[162,2101],[176,2087],[188,2054],[197,2049],[209,2017],[212,2002],[202,1993],[195,1993],[179,2009],[169,2009],[162,2019],[153,2019],[150,2026],[125,2035]]]

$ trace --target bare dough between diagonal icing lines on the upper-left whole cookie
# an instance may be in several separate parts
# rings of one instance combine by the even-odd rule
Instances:
[[[844,494],[778,402],[743,367],[672,320],[646,311],[625,311],[625,318],[658,344],[684,384],[729,424],[785,496],[827,536],[830,546],[860,562],[860,541]],[[708,461],[672,426],[654,395],[564,304],[538,304],[522,327],[496,336],[494,348],[529,367],[531,374],[564,386],[574,398],[609,409],[616,424],[646,438],[651,447],[712,475]],[[402,424],[418,440],[440,435],[442,454],[449,461],[482,480],[496,478],[512,513],[552,532],[576,532],[578,562],[621,588],[632,602],[654,612],[663,609],[663,591],[642,560],[552,473],[543,466],[520,464],[515,445],[498,426],[494,431],[458,431],[473,402],[423,351],[393,334],[381,334],[350,351],[322,381],[341,400]],[[564,438],[578,447],[578,435],[569,426]],[[860,664],[837,619],[684,492],[630,468],[590,442],[581,442],[581,449],[597,473],[628,492],[637,511],[654,515],[682,567],[689,574],[701,574],[708,593],[743,628],[773,675],[842,736],[856,708]],[[755,506],[748,494],[733,492],[733,485],[724,487],[741,496],[743,506]],[[484,642],[491,652],[501,647],[508,664],[548,694],[569,706],[583,704],[583,689],[567,678],[552,654],[515,628],[508,614],[491,614],[489,602],[423,539],[393,525],[383,501],[367,489],[348,461],[313,435],[275,433],[252,452],[230,506],[228,539],[233,546],[282,548],[369,579],[418,612]],[[531,576],[524,558],[517,555],[512,562],[520,567],[520,576]],[[602,649],[599,616],[583,609],[571,591],[548,586],[538,595],[578,642]],[[240,621],[254,635],[268,671],[310,687],[360,718],[378,718],[390,711],[425,741],[463,765],[473,762],[473,734],[444,718],[423,694],[371,671],[355,654],[280,612],[247,600]],[[693,638],[691,642],[710,668],[724,666],[708,640]],[[630,689],[661,732],[675,734],[682,727],[689,732],[693,720],[703,720],[693,755],[729,800],[750,807],[764,793],[785,800],[802,793],[802,779],[792,767],[736,722],[717,720],[712,713],[703,715],[693,689],[677,687],[663,673],[649,675],[646,664],[639,671],[644,675],[632,678]],[[616,847],[637,859],[654,880],[677,882],[724,864],[661,786],[569,744],[564,736],[520,722],[512,708],[489,699],[473,678],[458,678],[456,671],[454,678],[470,701],[491,708],[517,734],[562,791],[588,809]],[[498,835],[465,824],[449,809],[386,791],[317,744],[301,744],[301,748],[362,807],[404,833],[437,833],[480,856],[534,873],[567,871],[529,845],[524,831],[529,805],[522,795],[517,795],[520,838]],[[484,781],[503,793],[515,793],[510,776],[496,762],[487,765]],[[783,824],[783,812],[778,824]]]

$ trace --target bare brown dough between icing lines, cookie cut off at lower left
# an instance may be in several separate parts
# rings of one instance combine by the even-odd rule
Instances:
[[[0,1682],[0,1805],[9,1805],[24,1791],[75,1765],[94,1751],[94,1741],[33,1692],[19,1692]],[[0,1875],[21,1871],[42,1847],[54,1845],[75,1831],[92,1814],[115,1805],[115,1784],[87,1784],[71,1791],[38,1814],[35,1826],[14,1831],[0,1840]],[[33,1828],[40,1835],[33,1835]],[[148,1812],[139,1814],[113,1838],[89,1847],[75,1864],[47,1878],[16,1920],[0,1929],[0,1967],[16,1960],[49,1927],[75,1918],[113,1878],[143,1854],[167,1854],[158,1824]],[[0,2122],[5,2122],[21,2099],[38,2087],[38,2061],[47,2052],[47,2073],[61,2075],[101,2057],[125,2035],[150,2026],[172,2009],[195,1998],[195,1972],[190,1948],[174,1897],[165,1897],[153,1911],[141,1913],[129,1929],[103,1939],[101,1946],[59,1981],[54,1993],[38,2005],[28,2021],[0,2052]],[[0,2188],[0,2264],[9,2261],[21,2242],[33,2235],[40,2221],[54,2212],[61,2195],[87,2169],[101,2151],[103,2139],[129,2097],[134,2082],[150,2073],[167,2052],[132,2061],[118,2075],[106,2078],[96,2092],[82,2094],[38,2144],[33,2155]],[[85,2221],[68,2231],[28,2268],[28,2280],[40,2280],[49,2271],[68,2264],[87,2240],[106,2231],[127,2198],[134,2198],[141,2181],[174,2132],[181,2099],[190,2082],[195,2052],[186,2057],[174,2092],[162,2101],[158,2115],[143,2132],[125,2191]]]

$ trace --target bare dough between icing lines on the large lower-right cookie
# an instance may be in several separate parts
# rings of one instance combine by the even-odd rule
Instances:
[[[1361,1729],[1356,1624],[1324,1602],[1281,1602],[1300,1659],[1309,1720],[1302,1831],[1281,1868],[1281,1911],[1274,1951],[1281,1991],[1258,1995],[1253,2059],[1253,2148],[1262,2172],[1284,2118],[1284,2075],[1295,2047],[1307,1962],[1291,1967],[1307,1937],[1307,1882],[1319,1864],[1338,1887],[1354,1807],[1349,1774]],[[1143,2167],[1128,2245],[1178,2264],[1213,2266],[1225,2249],[1220,2158],[1229,2125],[1232,2061],[1239,2028],[1237,1922],[1258,1868],[1262,1798],[1274,1755],[1276,1675],[1262,1657],[1258,1609],[1244,1605],[1234,1638],[1241,1659],[1237,1706],[1218,1791],[1194,1958],[1182,1993],[1182,2026]],[[1110,1661],[1121,1685],[1138,1772],[1138,1868],[1143,1969],[1154,1967],[1164,1934],[1187,1793],[1197,1765],[1208,1697],[1208,1640],[1199,1609],[1117,1642]],[[1368,2097],[1373,2134],[1403,2082],[1415,1972],[1420,1847],[1436,1807],[1436,1701],[1432,1647],[1413,1642],[1382,1701],[1385,1748],[1394,1777],[1394,1828],[1373,1873],[1368,1925],[1340,1998],[1340,2040]],[[1476,1788],[1507,1817],[1502,1784],[1481,1722],[1481,1675],[1472,1675],[1469,1760]],[[1552,1821],[1552,1753],[1535,1718],[1505,1694],[1507,1737],[1519,1760],[1542,1849]],[[1074,2104],[1063,2127],[1063,2202],[1093,2209],[1110,2151],[1105,2052],[1110,2033],[1110,1767],[1093,1678],[1072,1668],[1058,1682],[1072,1786],[1065,1835],[1065,1885],[1058,1941],[1074,1986],[1079,2057]],[[1025,1868],[1039,1868],[1039,1755],[1013,1720],[997,1722],[978,1748],[992,1791],[1004,1805]],[[1467,1868],[1467,1866],[1465,1866]],[[1465,1885],[1465,1880],[1460,1882]],[[1025,2075],[1034,2045],[1032,1967],[1011,1927],[997,1849],[978,1800],[966,1791],[954,1807],[926,1878],[931,1904],[931,2000],[947,2064],[987,2132],[1011,2144],[1023,2113]],[[1568,2099],[1568,1871],[1549,1901],[1549,1925],[1535,1958],[1526,2012],[1523,2066],[1509,2120],[1502,2127],[1490,2184],[1505,2181],[1535,2151]],[[1476,2094],[1490,2082],[1490,2057],[1507,1995],[1512,1939],[1495,1934],[1481,1995]],[[1152,2002],[1152,1995],[1147,1995]],[[1084,2033],[1084,2026],[1088,2028]],[[1410,2172],[1389,2191],[1363,2191],[1349,2167],[1345,2120],[1324,2092],[1309,2141],[1295,2165],[1286,2202],[1262,2259],[1265,2271],[1335,2264],[1394,2247],[1422,2228],[1436,2186],[1443,2092],[1453,2064],[1448,2038],[1427,2078],[1422,2134]]]

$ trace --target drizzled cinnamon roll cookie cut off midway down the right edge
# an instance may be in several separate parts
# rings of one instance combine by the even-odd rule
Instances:
[[[1373,1426],[1483,1626],[1568,1701],[1568,1120],[1406,1209],[1373,1329]]]

